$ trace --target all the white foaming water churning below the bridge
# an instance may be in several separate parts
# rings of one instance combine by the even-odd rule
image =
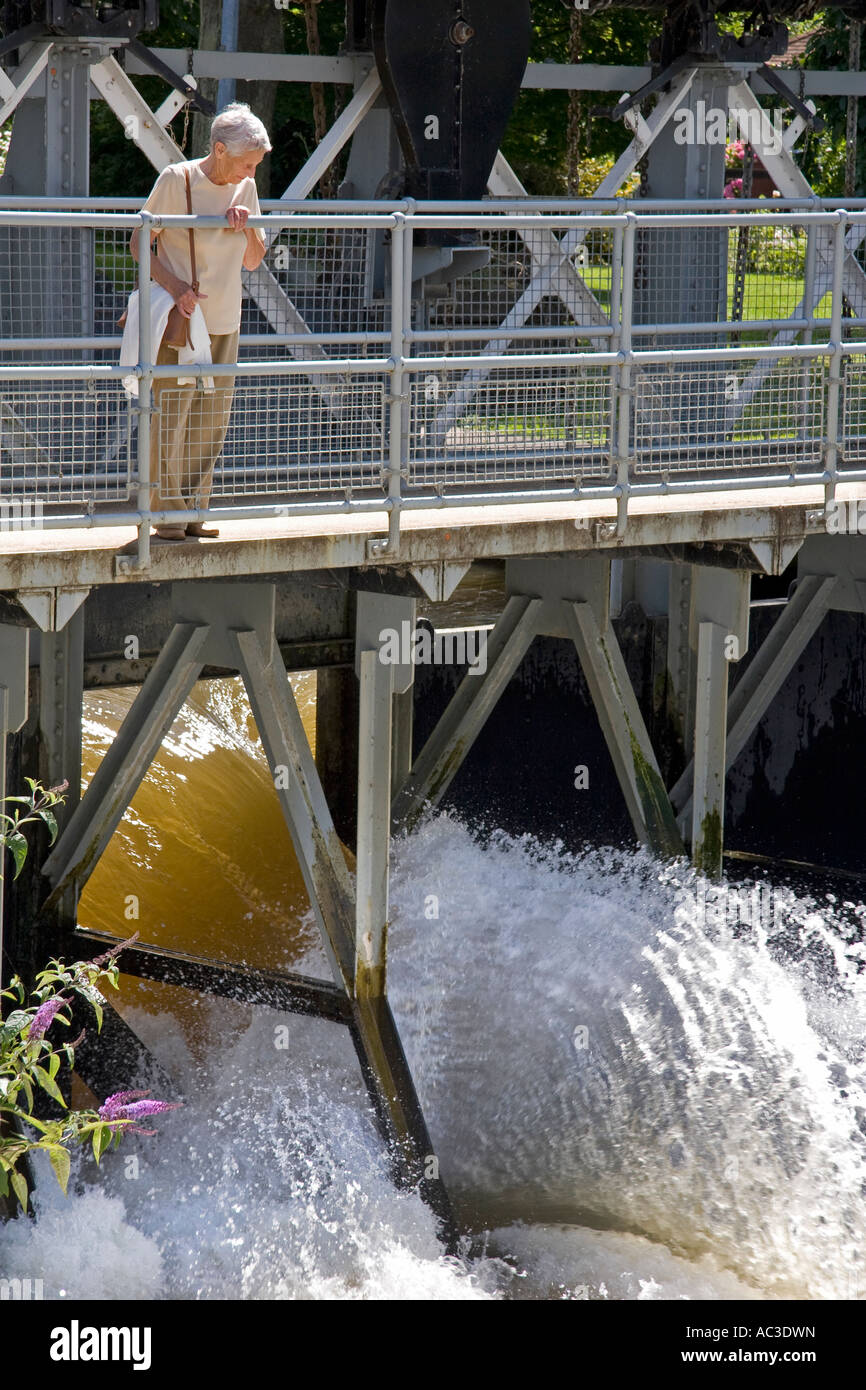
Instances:
[[[445,816],[395,858],[392,1005],[473,1254],[391,1184],[343,1030],[209,1001],[206,1069],[128,1015],[185,1108],[67,1202],[46,1177],[4,1273],[97,1298],[866,1294],[863,951],[833,905],[712,927],[642,853]]]

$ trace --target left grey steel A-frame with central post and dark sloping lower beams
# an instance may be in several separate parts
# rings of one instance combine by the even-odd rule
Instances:
[[[421,1193],[456,1248],[438,1159],[386,997],[388,806],[393,667],[378,659],[379,595],[359,594],[360,699],[357,887],[321,787],[274,635],[268,584],[178,584],[174,627],[81,803],[43,865],[44,912],[76,897],[96,867],[178,712],[207,664],[239,671],[292,835],[334,983],[139,947],[124,970],[250,1002],[268,1002],[349,1027],[393,1176]],[[411,619],[414,602],[389,599]],[[0,628],[0,634],[3,630]]]

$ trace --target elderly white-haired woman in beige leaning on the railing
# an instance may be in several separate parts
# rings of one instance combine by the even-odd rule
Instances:
[[[192,210],[224,217],[227,228],[196,229],[195,259],[199,292],[193,289],[189,232],[185,227],[154,231],[157,242],[152,274],[168,291],[185,318],[202,306],[210,335],[211,360],[238,360],[240,331],[240,268],[256,270],[265,253],[263,231],[247,227],[260,214],[256,170],[271,149],[268,133],[249,106],[232,101],[220,111],[210,128],[210,153],[203,160],[170,164],[145,203],[147,213],[186,213],[186,178]],[[138,260],[139,234],[132,234],[131,250]],[[178,349],[160,343],[158,366],[175,364]],[[192,512],[206,507],[214,464],[222,449],[232,409],[234,377],[214,374],[214,389],[179,386],[165,377],[153,382],[153,427],[150,448],[152,506],[157,510]],[[211,537],[202,523],[158,525],[164,541],[189,535]]]

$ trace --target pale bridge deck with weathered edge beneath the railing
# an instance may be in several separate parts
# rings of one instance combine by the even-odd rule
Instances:
[[[866,484],[840,484],[840,500],[866,498]],[[221,578],[302,570],[431,564],[569,550],[652,550],[666,546],[788,546],[824,530],[820,486],[696,492],[632,498],[624,538],[595,523],[616,516],[610,502],[438,506],[403,513],[396,555],[371,559],[367,542],[386,531],[385,513],[228,520],[218,539],[154,541],[149,580]],[[809,516],[809,513],[813,513]],[[815,513],[822,513],[815,516]],[[0,589],[114,584],[135,552],[135,528],[0,532]],[[756,563],[758,567],[758,563]]]

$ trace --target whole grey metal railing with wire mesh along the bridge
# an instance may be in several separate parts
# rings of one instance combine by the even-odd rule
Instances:
[[[146,236],[118,364],[129,235],[170,222],[0,204],[0,502],[136,525],[131,564],[160,521],[385,510],[388,550],[418,506],[607,498],[623,534],[638,495],[866,480],[865,202],[268,204],[224,393],[154,364]]]

